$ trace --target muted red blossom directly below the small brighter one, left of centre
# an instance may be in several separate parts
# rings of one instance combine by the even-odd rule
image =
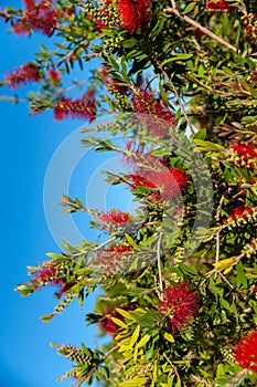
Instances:
[[[130,268],[135,257],[130,245],[115,244],[98,252],[96,262],[100,271],[107,275],[117,274]]]

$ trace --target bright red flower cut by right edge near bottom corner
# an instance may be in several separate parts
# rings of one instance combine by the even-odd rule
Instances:
[[[257,330],[248,332],[234,349],[235,358],[243,368],[257,373]]]

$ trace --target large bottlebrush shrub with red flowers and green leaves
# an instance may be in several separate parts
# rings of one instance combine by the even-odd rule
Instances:
[[[53,344],[73,362],[60,380],[256,386],[257,63],[255,39],[242,33],[243,17],[255,36],[255,1],[23,3],[1,20],[15,39],[43,33],[44,45],[0,86],[36,91],[8,88],[1,103],[85,121],[83,146],[120,156],[126,171],[106,179],[137,203],[133,215],[88,209],[64,192],[64,212],[92,216],[99,238],[64,243],[17,286],[53,287],[45,323],[101,290],[86,321],[109,343],[89,348],[82,332],[81,347]]]

